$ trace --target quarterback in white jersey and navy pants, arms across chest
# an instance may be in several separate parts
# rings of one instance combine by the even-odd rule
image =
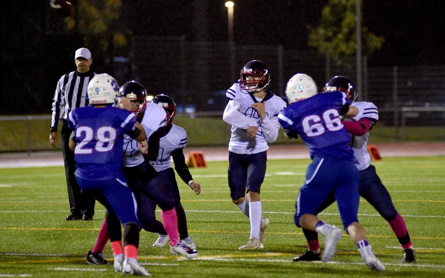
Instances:
[[[286,102],[266,90],[270,82],[266,63],[250,61],[240,75],[239,83],[227,90],[229,102],[223,114],[223,120],[232,125],[228,184],[232,202],[250,220],[249,242],[240,249],[262,249],[264,231],[269,224],[269,220],[262,217],[260,200],[266,175],[267,143],[278,137],[278,114],[286,108]]]

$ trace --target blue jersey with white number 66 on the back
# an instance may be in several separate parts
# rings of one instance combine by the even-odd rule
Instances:
[[[311,158],[329,154],[355,161],[351,138],[340,121],[339,111],[349,105],[343,92],[320,93],[289,105],[278,116],[281,126],[298,133],[309,148]]]

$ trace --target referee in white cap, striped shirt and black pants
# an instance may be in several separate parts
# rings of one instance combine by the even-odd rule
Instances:
[[[68,148],[71,130],[68,128],[67,116],[71,110],[77,107],[88,106],[88,83],[96,73],[89,70],[92,59],[91,52],[87,48],[79,48],[76,50],[74,63],[76,64],[77,70],[62,75],[57,82],[54,102],[52,103],[49,143],[53,147],[56,146],[57,126],[61,120],[62,152],[64,154],[69,206],[71,208],[71,214],[67,216],[67,220],[92,220],[95,199],[93,196],[82,194],[76,182],[76,177],[74,176],[74,171],[76,170],[74,152]]]

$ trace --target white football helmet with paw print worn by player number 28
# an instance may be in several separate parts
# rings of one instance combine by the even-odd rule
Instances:
[[[119,85],[110,74],[94,76],[88,83],[89,104],[113,104],[119,96]]]

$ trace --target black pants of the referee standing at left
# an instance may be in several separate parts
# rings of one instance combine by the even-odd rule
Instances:
[[[94,204],[96,200],[91,194],[82,193],[76,181],[74,172],[76,171],[76,163],[74,162],[74,152],[68,147],[69,136],[71,130],[68,128],[68,123],[63,120],[61,138],[62,138],[62,152],[64,154],[65,175],[67,178],[68,200],[71,214],[82,217],[92,217],[94,215]]]

